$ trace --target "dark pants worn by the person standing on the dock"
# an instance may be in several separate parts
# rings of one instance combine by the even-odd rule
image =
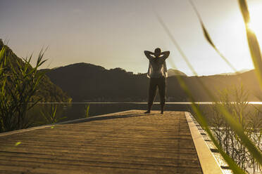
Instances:
[[[156,97],[156,87],[158,87],[158,92],[160,95],[161,105],[165,105],[166,102],[166,77],[150,78],[149,84],[149,106],[153,105],[154,99]]]

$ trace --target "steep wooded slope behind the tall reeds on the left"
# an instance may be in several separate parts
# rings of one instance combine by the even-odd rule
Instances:
[[[0,50],[4,46],[3,41],[0,39]],[[15,53],[6,46],[6,55],[9,55],[9,58],[14,65],[14,67],[18,67],[17,62],[20,65],[25,65],[21,58],[18,58]],[[10,65],[9,65],[10,66]],[[41,99],[41,102],[70,102],[72,100],[60,87],[56,86],[52,83],[48,76],[44,76],[42,81],[39,82],[39,89],[32,97],[32,101],[36,101]]]

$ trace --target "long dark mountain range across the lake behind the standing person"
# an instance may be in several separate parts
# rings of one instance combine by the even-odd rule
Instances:
[[[147,101],[149,79],[146,74],[132,74],[121,68],[105,69],[83,62],[43,71],[47,71],[46,75],[51,81],[66,91],[74,102]],[[173,71],[174,69],[169,69],[169,72]],[[249,91],[249,100],[258,101],[256,96],[261,95],[254,70],[231,76],[186,76],[182,72],[179,74],[197,101],[211,101],[197,79],[200,79],[214,95],[223,88],[241,85]],[[171,75],[167,79],[167,101],[188,101],[176,76]]]

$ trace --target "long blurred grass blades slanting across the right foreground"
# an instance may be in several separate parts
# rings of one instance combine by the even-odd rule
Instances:
[[[190,1],[190,2],[192,3],[192,1]],[[247,27],[248,26],[247,22],[249,22],[249,12],[248,12],[248,9],[247,9],[246,1],[239,0],[239,6],[242,10],[244,21],[246,22],[247,37],[249,37],[249,39],[248,39],[249,49],[250,49],[250,52],[251,52],[251,57],[253,59],[253,62],[254,62],[254,64],[256,64],[254,67],[256,69],[256,74],[258,74],[258,81],[260,81],[260,83],[262,84],[261,53],[260,53],[260,50],[259,50],[259,45],[258,45],[258,41],[256,39],[256,35],[254,34],[254,32],[250,32],[248,27]],[[196,8],[194,8],[194,9],[196,11]],[[221,58],[223,58],[223,60],[225,60],[227,63],[229,63],[228,60],[218,51],[218,48],[216,48],[215,44],[213,44],[213,41],[211,40],[210,35],[208,34],[206,28],[204,27],[204,22],[202,22],[199,13],[197,13],[197,15],[199,17],[199,21],[201,22],[201,27],[203,29],[204,36],[205,36],[206,40],[208,41],[208,43],[211,44],[211,46],[218,52],[218,54],[220,55]],[[182,58],[184,58],[185,62],[187,62],[187,65],[189,66],[189,68],[197,76],[196,71],[194,70],[194,68],[190,64],[185,53],[183,53],[182,49],[177,44],[177,41],[175,41],[175,38],[170,33],[168,27],[166,27],[165,23],[163,22],[163,20],[161,20],[159,15],[157,15],[157,18],[158,18],[158,21],[163,26],[163,29],[165,29],[166,33],[168,34],[170,39],[173,41],[173,44],[175,44],[175,46],[177,47],[177,50],[182,55]],[[175,67],[175,65],[174,65],[174,67]],[[232,67],[232,65],[230,65],[230,67]],[[235,69],[234,67],[232,67],[232,68]],[[218,148],[218,152],[220,152],[220,154],[223,156],[225,161],[227,161],[228,165],[230,166],[230,168],[232,169],[232,171],[234,173],[245,173],[244,170],[242,170],[241,168],[239,168],[239,166],[237,166],[237,163],[235,163],[234,159],[230,158],[230,156],[224,151],[224,149],[220,146],[219,142],[216,140],[216,137],[213,135],[211,129],[208,126],[208,121],[204,116],[204,112],[201,109],[199,109],[199,107],[196,106],[194,97],[192,96],[191,91],[189,91],[189,88],[187,87],[185,81],[180,76],[177,76],[177,80],[179,81],[180,86],[183,88],[185,93],[187,93],[187,95],[189,96],[189,99],[192,101],[192,109],[194,110],[194,112],[197,115],[197,120],[199,121],[199,124],[201,124],[202,128],[204,128],[206,130],[206,133],[208,133],[208,135],[211,138],[211,140],[213,141],[214,145],[216,145],[216,147]],[[201,85],[201,87],[204,88],[204,90],[209,95],[209,97],[213,101],[217,101],[217,98],[211,93],[210,90],[208,90],[207,86],[204,83],[202,83],[202,81],[200,79],[197,79],[197,81]],[[261,149],[258,149],[258,147],[256,147],[256,145],[254,145],[254,142],[252,142],[251,138],[249,138],[246,135],[246,133],[244,132],[244,128],[243,128],[242,124],[239,123],[239,122],[236,122],[234,120],[234,116],[230,113],[230,111],[225,106],[219,105],[218,102],[216,102],[216,109],[223,115],[223,119],[225,119],[225,121],[230,126],[232,131],[234,131],[234,133],[236,134],[236,137],[239,138],[239,140],[241,140],[243,142],[244,146],[248,149],[251,156],[258,162],[258,165],[262,165]]]

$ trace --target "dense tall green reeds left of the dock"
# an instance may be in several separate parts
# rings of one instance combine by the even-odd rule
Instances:
[[[46,62],[41,51],[35,67],[30,65],[30,58],[14,60],[11,52],[6,52],[3,46],[0,52],[0,132],[28,128],[30,118],[26,117],[27,111],[32,109],[39,100],[32,102],[39,86],[39,81],[44,77],[44,72],[38,68]]]

